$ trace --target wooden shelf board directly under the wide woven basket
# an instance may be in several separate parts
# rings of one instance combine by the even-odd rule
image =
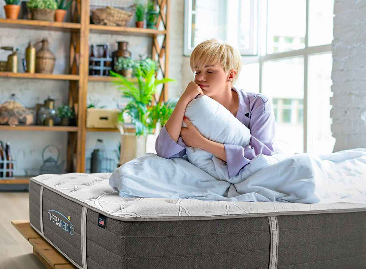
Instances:
[[[155,29],[137,28],[137,27],[106,26],[97,24],[91,24],[89,26],[89,29],[91,33],[101,33],[101,34],[121,33],[134,36],[157,36],[167,33],[167,31],[165,30],[155,30]]]

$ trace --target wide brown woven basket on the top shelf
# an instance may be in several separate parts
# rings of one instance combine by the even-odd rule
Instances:
[[[126,23],[133,17],[135,7],[136,5],[124,9],[114,7],[97,8],[91,11],[91,18],[94,24],[126,26]]]

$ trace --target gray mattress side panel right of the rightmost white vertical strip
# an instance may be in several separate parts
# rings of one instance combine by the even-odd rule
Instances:
[[[366,268],[366,212],[278,216],[277,220],[278,268]]]

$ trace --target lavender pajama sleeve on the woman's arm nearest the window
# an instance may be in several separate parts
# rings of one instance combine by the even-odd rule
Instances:
[[[276,119],[272,102],[262,104],[250,116],[250,142],[246,147],[224,144],[229,176],[235,176],[259,154],[272,155],[276,134]]]

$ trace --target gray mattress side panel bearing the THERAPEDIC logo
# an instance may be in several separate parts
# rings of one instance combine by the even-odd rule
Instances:
[[[82,206],[48,189],[43,191],[42,200],[43,229],[46,238],[76,264],[82,266],[81,259],[81,212]],[[56,216],[55,217],[52,217]],[[68,217],[70,216],[70,221]],[[58,223],[63,220],[68,227]]]

